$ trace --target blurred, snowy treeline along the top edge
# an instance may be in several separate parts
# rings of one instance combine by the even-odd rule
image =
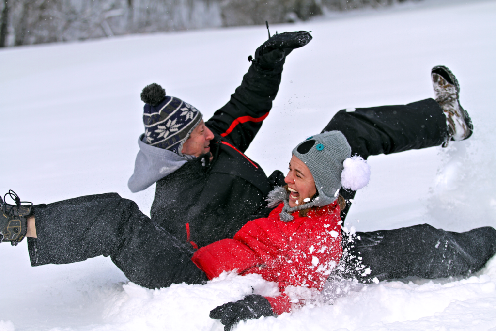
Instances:
[[[0,0],[0,47],[293,22],[405,0]]]

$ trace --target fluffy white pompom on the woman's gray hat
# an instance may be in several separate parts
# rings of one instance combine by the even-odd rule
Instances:
[[[354,155],[347,158],[344,160],[343,166],[344,169],[341,172],[343,188],[357,191],[369,184],[371,167],[361,156]]]

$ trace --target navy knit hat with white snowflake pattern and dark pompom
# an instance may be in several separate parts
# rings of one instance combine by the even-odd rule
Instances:
[[[142,141],[183,156],[183,144],[200,123],[201,113],[181,99],[166,96],[165,89],[155,83],[143,88],[141,100],[145,103]]]

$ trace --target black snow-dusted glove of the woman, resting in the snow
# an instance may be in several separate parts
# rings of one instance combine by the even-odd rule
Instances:
[[[262,316],[275,316],[267,299],[258,294],[246,296],[243,300],[228,302],[210,311],[210,318],[220,320],[229,331],[240,321],[258,319]]]

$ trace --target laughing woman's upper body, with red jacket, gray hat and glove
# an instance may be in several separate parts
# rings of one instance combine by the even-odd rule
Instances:
[[[287,190],[277,188],[269,195],[269,206],[277,206],[269,217],[249,221],[234,239],[212,243],[193,255],[191,260],[209,279],[236,269],[243,275],[258,273],[278,282],[278,297],[251,295],[244,299],[245,304],[249,301],[248,317],[291,311],[291,302],[296,301],[285,294],[288,286],[320,291],[339,264],[343,253],[339,189],[345,183],[346,189],[358,190],[367,185],[370,176],[367,163],[361,157],[350,158],[350,153],[341,132],[309,137],[293,149],[285,178]],[[225,310],[219,307],[211,317],[221,319],[227,329],[247,317],[233,314],[232,307],[222,313]]]

